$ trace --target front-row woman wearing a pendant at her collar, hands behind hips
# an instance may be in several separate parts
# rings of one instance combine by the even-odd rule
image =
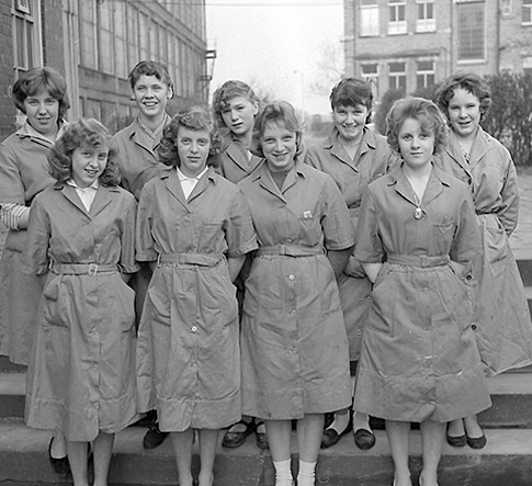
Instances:
[[[490,406],[471,328],[480,247],[467,185],[434,166],[446,126],[434,103],[397,101],[387,139],[399,167],[362,199],[355,257],[373,282],[354,406],[383,418],[394,486],[411,486],[410,422],[420,422],[420,486],[438,486],[445,422]]]

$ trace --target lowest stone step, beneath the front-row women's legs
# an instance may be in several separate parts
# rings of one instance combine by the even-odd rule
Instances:
[[[178,482],[170,440],[152,451],[142,448],[144,428],[131,427],[116,437],[109,476],[113,485],[174,485]],[[370,451],[355,448],[352,436],[319,454],[317,485],[382,486],[392,484],[393,463],[386,433],[375,431],[376,444]],[[532,430],[490,429],[483,450],[443,447],[440,464],[440,486],[530,486],[532,470]],[[0,421],[0,483],[11,485],[60,484],[48,464],[47,447],[50,433],[26,428],[19,421]],[[293,464],[296,464],[297,438],[292,436]],[[410,434],[410,467],[417,478],[421,465],[419,430]],[[193,467],[197,471],[197,443],[194,444]],[[218,447],[215,462],[216,486],[273,485],[270,452],[261,451],[250,436],[236,450]],[[417,484],[417,483],[415,483]]]

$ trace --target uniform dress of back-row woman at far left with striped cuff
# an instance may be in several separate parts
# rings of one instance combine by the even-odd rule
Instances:
[[[36,194],[54,183],[48,174],[53,143],[27,123],[0,146],[0,203],[31,206]],[[1,224],[1,223],[0,223]],[[27,364],[42,285],[22,273],[27,231],[10,229],[0,260],[0,354]]]

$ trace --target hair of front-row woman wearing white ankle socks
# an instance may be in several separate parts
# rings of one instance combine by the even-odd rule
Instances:
[[[257,115],[253,125],[253,139],[251,143],[251,151],[264,157],[260,138],[264,134],[269,125],[284,126],[288,132],[294,132],[296,136],[296,157],[303,151],[303,127],[295,114],[294,106],[287,101],[272,101],[267,104],[263,110]]]

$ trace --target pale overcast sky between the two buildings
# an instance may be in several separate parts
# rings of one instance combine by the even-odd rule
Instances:
[[[322,47],[343,38],[342,0],[206,0],[206,14],[217,53],[211,92],[241,79],[308,113],[330,112],[327,95],[309,86]]]

